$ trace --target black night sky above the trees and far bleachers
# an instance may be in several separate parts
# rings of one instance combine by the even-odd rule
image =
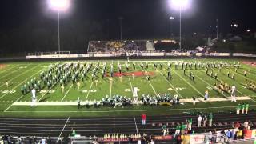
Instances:
[[[192,0],[193,6],[182,11],[182,34],[214,33],[216,19],[220,33],[230,32],[230,24],[237,23],[238,31],[256,30],[255,0]],[[175,20],[170,22],[169,17]],[[6,0],[0,6],[0,30],[18,29],[34,19],[44,25],[56,26],[57,14],[49,10],[46,0]],[[119,38],[122,17],[123,38],[166,37],[170,31],[178,33],[178,11],[171,10],[167,0],[73,0],[70,10],[61,14],[66,22],[96,21],[108,38]]]

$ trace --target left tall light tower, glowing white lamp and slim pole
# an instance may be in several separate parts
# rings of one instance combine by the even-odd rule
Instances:
[[[48,0],[48,4],[52,10],[57,10],[58,13],[58,54],[60,54],[61,42],[59,38],[59,13],[69,9],[70,0]]]

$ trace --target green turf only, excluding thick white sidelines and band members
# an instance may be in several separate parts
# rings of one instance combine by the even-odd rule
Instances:
[[[161,61],[161,60],[159,60]],[[167,75],[167,62],[162,62],[162,70],[159,68],[154,70],[154,63],[160,64],[159,61],[147,61],[149,68],[146,70],[148,72],[153,72],[154,75],[150,77],[150,81],[146,80],[145,76],[138,76],[132,78],[131,76],[123,76],[122,82],[118,77],[113,78],[113,85],[110,86],[108,78],[102,79],[102,66],[99,67],[97,77],[98,86],[91,81],[91,70],[90,74],[87,74],[86,81],[81,81],[80,90],[76,84],[72,85],[69,82],[65,86],[65,92],[62,94],[60,85],[54,86],[49,93],[37,93],[37,98],[44,102],[70,102],[76,101],[78,97],[82,101],[94,101],[102,100],[106,95],[124,95],[126,97],[133,97],[131,88],[138,87],[139,98],[142,94],[164,94],[170,93],[171,95],[178,94],[180,98],[203,98],[205,90],[209,90],[210,98],[226,98],[230,94],[221,94],[218,91],[213,90],[214,78],[206,75],[205,70],[186,70],[186,75],[183,74],[183,70],[174,70],[174,61],[190,61],[190,62],[238,62],[242,63],[243,60],[238,59],[177,59],[170,60],[173,62],[171,74],[173,78],[169,81],[166,78]],[[85,61],[86,62],[86,61]],[[94,61],[98,63],[98,61]],[[108,61],[114,62],[114,71],[118,72],[118,61]],[[136,69],[134,70],[130,64],[129,73],[143,71],[138,63],[143,62],[146,64],[146,60],[141,60],[136,62]],[[205,111],[205,112],[217,112],[217,111],[228,111],[234,110],[238,103],[250,103],[250,108],[256,106],[256,94],[252,90],[246,89],[243,84],[246,78],[256,82],[256,68],[250,67],[248,65],[242,64],[242,67],[238,69],[237,73],[234,68],[223,68],[221,72],[218,69],[214,69],[214,73],[218,73],[218,80],[224,81],[230,85],[235,85],[238,90],[238,96],[249,96],[250,101],[241,101],[237,103],[230,102],[198,102],[196,106],[192,106],[190,103],[185,103],[180,106],[130,106],[130,107],[99,107],[99,108],[82,108],[79,109],[77,106],[13,106],[14,102],[30,102],[31,94],[26,94],[22,96],[21,86],[30,80],[31,78],[39,79],[39,73],[42,70],[47,70],[50,64],[56,62],[15,62],[15,63],[3,63],[0,69],[0,115],[3,117],[92,117],[92,116],[124,116],[124,115],[138,115],[142,112],[146,112],[149,115],[156,114],[183,114],[184,112],[194,112],[194,111]],[[63,62],[61,62],[63,63]],[[83,63],[83,61],[81,61]],[[120,61],[122,64],[123,72],[125,70],[125,61]],[[100,62],[102,65],[102,62]],[[251,68],[251,73],[248,73],[246,77],[243,75],[244,70],[249,70]],[[110,72],[110,64],[107,66],[107,73]],[[189,78],[189,71],[195,74],[194,81]],[[227,72],[235,74],[235,79],[227,77]],[[9,82],[9,86],[6,86],[6,81]],[[47,89],[44,88],[46,91]],[[255,106],[254,106],[255,105]]]

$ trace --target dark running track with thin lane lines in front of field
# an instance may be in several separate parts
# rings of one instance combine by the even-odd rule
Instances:
[[[196,132],[205,132],[213,129],[231,128],[231,123],[245,122],[250,120],[256,127],[256,111],[250,111],[247,115],[236,114],[214,114],[213,123],[216,126],[197,128],[198,116],[174,115],[174,116],[154,116],[147,118],[146,126],[142,126],[140,117],[126,118],[0,118],[0,134],[10,134],[16,136],[69,136],[72,130],[82,136],[100,136],[104,134],[162,134],[162,126],[159,123],[168,123],[170,133],[174,133],[174,128],[178,122],[185,122],[186,118],[193,118],[192,129]],[[152,126],[155,123],[156,126]],[[222,124],[222,126],[218,126]]]

